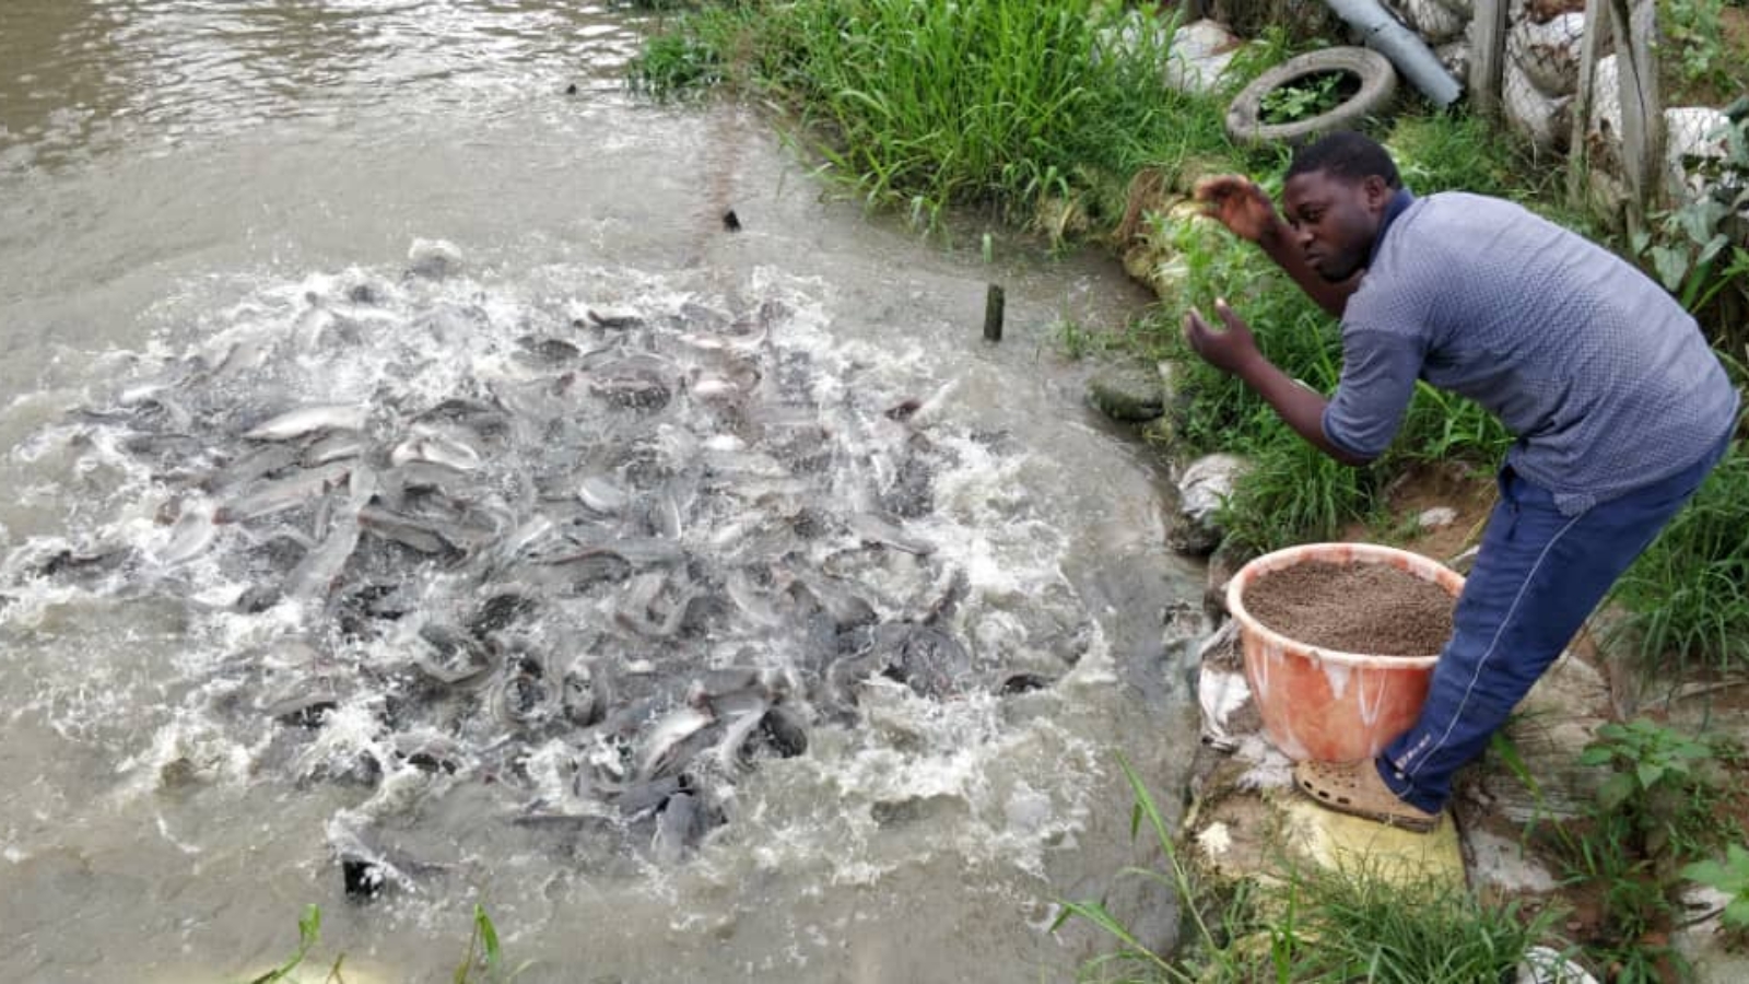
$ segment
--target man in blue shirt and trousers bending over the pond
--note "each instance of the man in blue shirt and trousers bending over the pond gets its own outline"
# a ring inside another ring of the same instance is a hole
[[[1287,170],[1279,215],[1224,175],[1196,196],[1341,317],[1327,401],[1258,350],[1184,315],[1198,355],[1237,375],[1345,464],[1390,443],[1415,380],[1471,397],[1516,438],[1420,718],[1373,762],[1300,763],[1331,809],[1431,830],[1483,751],[1614,580],[1725,455],[1739,397],[1695,320],[1632,264],[1497,198],[1415,198],[1383,147],[1333,133]]]

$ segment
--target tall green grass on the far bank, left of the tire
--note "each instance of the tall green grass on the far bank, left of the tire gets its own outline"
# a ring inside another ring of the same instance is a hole
[[[1046,196],[1097,224],[1139,166],[1230,152],[1219,102],[1163,82],[1174,26],[1097,0],[743,2],[677,19],[633,77],[721,74],[787,107],[827,179],[929,228],[953,207],[1025,222]]]

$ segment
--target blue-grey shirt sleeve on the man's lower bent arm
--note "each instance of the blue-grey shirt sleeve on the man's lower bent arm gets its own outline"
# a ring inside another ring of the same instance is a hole
[[[1359,459],[1385,453],[1415,397],[1424,357],[1417,338],[1390,331],[1343,331],[1341,380],[1324,408],[1324,438]]]

